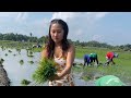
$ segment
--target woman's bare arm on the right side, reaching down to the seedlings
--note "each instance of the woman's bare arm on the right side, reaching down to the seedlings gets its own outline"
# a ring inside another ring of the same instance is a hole
[[[58,74],[58,78],[61,78],[71,72],[71,68],[73,65],[74,58],[75,58],[75,48],[73,45],[71,45],[69,50],[68,50],[68,54],[67,54],[66,69],[60,74]]]

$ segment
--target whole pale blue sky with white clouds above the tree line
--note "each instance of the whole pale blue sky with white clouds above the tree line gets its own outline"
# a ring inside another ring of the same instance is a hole
[[[0,33],[41,37],[56,17],[68,23],[69,39],[131,44],[131,12],[0,12]]]

